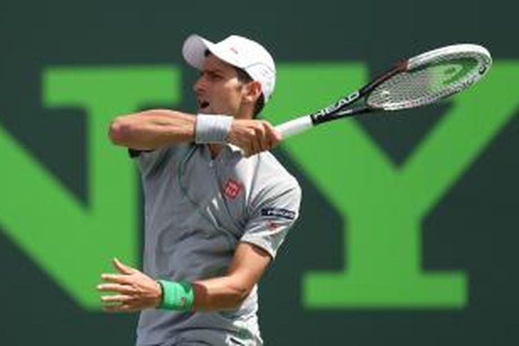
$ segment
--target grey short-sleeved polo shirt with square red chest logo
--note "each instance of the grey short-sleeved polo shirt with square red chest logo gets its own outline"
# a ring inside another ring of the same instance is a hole
[[[142,152],[145,194],[144,271],[156,279],[225,275],[239,242],[275,257],[298,217],[298,182],[269,152],[244,158],[226,145],[211,158],[206,145],[185,143]],[[257,286],[233,311],[140,313],[137,345],[262,345]],[[234,342],[234,343],[233,343]]]

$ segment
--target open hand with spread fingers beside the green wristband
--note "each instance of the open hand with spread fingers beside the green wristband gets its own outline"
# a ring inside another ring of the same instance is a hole
[[[114,293],[101,296],[104,311],[139,311],[160,304],[162,289],[158,282],[116,258],[113,266],[119,273],[102,273],[104,283],[97,286],[98,291]]]

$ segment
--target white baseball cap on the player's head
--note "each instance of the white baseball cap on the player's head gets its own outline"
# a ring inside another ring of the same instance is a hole
[[[261,44],[237,35],[231,35],[217,43],[199,35],[190,35],[182,47],[185,61],[199,70],[202,69],[206,51],[246,71],[253,80],[262,84],[265,102],[271,98],[275,86],[275,64],[272,56]]]

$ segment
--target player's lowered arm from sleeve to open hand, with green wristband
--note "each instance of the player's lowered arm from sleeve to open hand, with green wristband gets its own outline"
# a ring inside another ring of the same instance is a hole
[[[101,297],[105,311],[138,311],[161,307],[164,294],[168,295],[164,289],[169,289],[169,285],[179,285],[173,286],[173,289],[179,290],[178,297],[171,297],[169,293],[170,297],[167,298],[178,300],[172,304],[178,304],[179,310],[184,310],[183,304],[185,310],[236,309],[251,293],[269,262],[271,256],[262,248],[242,242],[236,248],[227,275],[197,280],[185,287],[176,282],[160,284],[152,277],[114,259],[113,264],[119,273],[102,274],[104,283],[98,285],[98,290],[112,293]],[[189,302],[190,299],[192,302]],[[185,300],[188,300],[187,305]]]

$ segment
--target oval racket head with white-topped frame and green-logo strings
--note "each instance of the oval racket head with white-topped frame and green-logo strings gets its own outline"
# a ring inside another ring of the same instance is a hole
[[[428,51],[399,63],[389,78],[370,88],[365,102],[386,111],[424,106],[468,88],[491,64],[489,51],[476,44]]]

